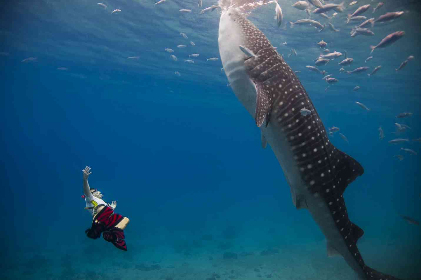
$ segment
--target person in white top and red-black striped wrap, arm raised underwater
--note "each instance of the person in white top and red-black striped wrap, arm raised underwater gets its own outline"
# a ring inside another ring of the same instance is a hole
[[[127,217],[114,213],[117,201],[111,204],[102,200],[104,196],[97,189],[91,189],[88,184],[88,177],[91,175],[91,168],[86,166],[83,171],[83,198],[86,201],[85,209],[90,211],[93,216],[92,226],[85,230],[88,237],[97,239],[101,236],[104,240],[111,242],[115,247],[127,251],[126,242],[124,241],[124,232],[129,223]]]

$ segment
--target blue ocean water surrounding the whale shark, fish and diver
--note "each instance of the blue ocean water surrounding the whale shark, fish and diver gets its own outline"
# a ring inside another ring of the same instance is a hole
[[[325,127],[339,127],[349,140],[336,133],[332,143],[365,169],[344,198],[351,221],[365,231],[358,246],[366,264],[419,279],[420,227],[400,215],[421,220],[421,144],[388,143],[421,137],[418,1],[385,0],[373,16],[405,13],[376,24],[372,37],[350,37],[353,24],[346,24],[346,14],[377,1],[345,1],[344,13],[329,20],[312,15],[340,29],[320,33],[286,24],[306,17],[294,2],[279,1],[281,28],[271,4],[248,18],[293,70],[301,70],[298,77]],[[332,2],[339,3],[326,1]],[[293,206],[282,169],[270,147],[261,148],[260,131],[227,86],[221,61],[206,61],[219,57],[220,10],[199,12],[215,3],[105,4],[106,9],[90,0],[0,4],[3,277],[356,279],[343,259],[328,258],[325,238],[308,211]],[[111,13],[115,9],[121,12]],[[370,17],[372,8],[366,13]],[[364,62],[370,45],[399,30],[404,37]],[[325,91],[322,76],[305,67],[322,52],[320,40],[330,51],[347,51],[354,58],[350,69],[382,68],[368,78],[339,73],[342,58],[330,61],[320,69],[338,83]],[[175,50],[178,61],[165,48]],[[291,48],[297,56],[288,57]],[[185,63],[192,53],[200,56]],[[415,59],[395,71],[410,55]],[[22,62],[29,57],[36,59]],[[356,85],[359,91],[352,90]],[[413,115],[397,119],[401,112]],[[397,135],[394,123],[410,129]],[[84,234],[91,226],[80,198],[86,165],[93,171],[91,187],[105,201],[117,200],[116,212],[131,220],[125,229],[128,252]],[[228,252],[238,258],[224,259]]]

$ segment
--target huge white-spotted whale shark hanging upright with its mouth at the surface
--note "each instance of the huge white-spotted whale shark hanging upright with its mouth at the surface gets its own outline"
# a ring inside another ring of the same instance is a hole
[[[368,267],[357,248],[364,231],[349,220],[344,191],[363,167],[330,143],[292,69],[238,6],[221,5],[218,47],[234,94],[272,148],[293,205],[307,209],[326,237],[328,256],[342,256],[361,280],[396,280]],[[306,108],[309,114],[301,115]]]

